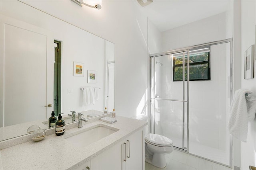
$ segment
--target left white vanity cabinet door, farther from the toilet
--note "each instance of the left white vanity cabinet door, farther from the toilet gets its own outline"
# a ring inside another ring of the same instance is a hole
[[[93,158],[91,167],[90,170],[122,170],[122,143]]]

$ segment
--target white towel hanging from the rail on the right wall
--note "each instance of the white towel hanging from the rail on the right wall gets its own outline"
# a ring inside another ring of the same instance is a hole
[[[246,89],[235,92],[228,122],[230,134],[242,142],[247,140],[248,121],[254,120],[256,114],[256,98],[245,96],[246,93],[250,94],[252,92]]]

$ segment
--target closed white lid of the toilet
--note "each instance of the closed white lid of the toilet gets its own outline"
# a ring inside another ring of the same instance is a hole
[[[158,134],[148,134],[145,137],[145,140],[148,141],[149,143],[152,143],[153,145],[160,145],[164,147],[170,147],[172,146],[172,140],[169,139],[168,137],[158,135]]]

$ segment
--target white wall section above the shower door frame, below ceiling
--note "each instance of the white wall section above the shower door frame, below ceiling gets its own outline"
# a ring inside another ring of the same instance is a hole
[[[225,12],[162,32],[162,51],[230,38],[227,16]]]

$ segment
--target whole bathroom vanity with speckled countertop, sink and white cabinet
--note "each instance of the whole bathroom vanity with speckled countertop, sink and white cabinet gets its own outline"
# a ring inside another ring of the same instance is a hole
[[[1,170],[144,170],[144,126],[147,122],[116,118],[118,121],[112,124],[100,120],[83,123],[80,129],[76,122],[73,123],[76,127],[66,130],[62,136],[52,134],[39,142],[31,140],[2,148]],[[0,144],[15,143],[15,140]]]

